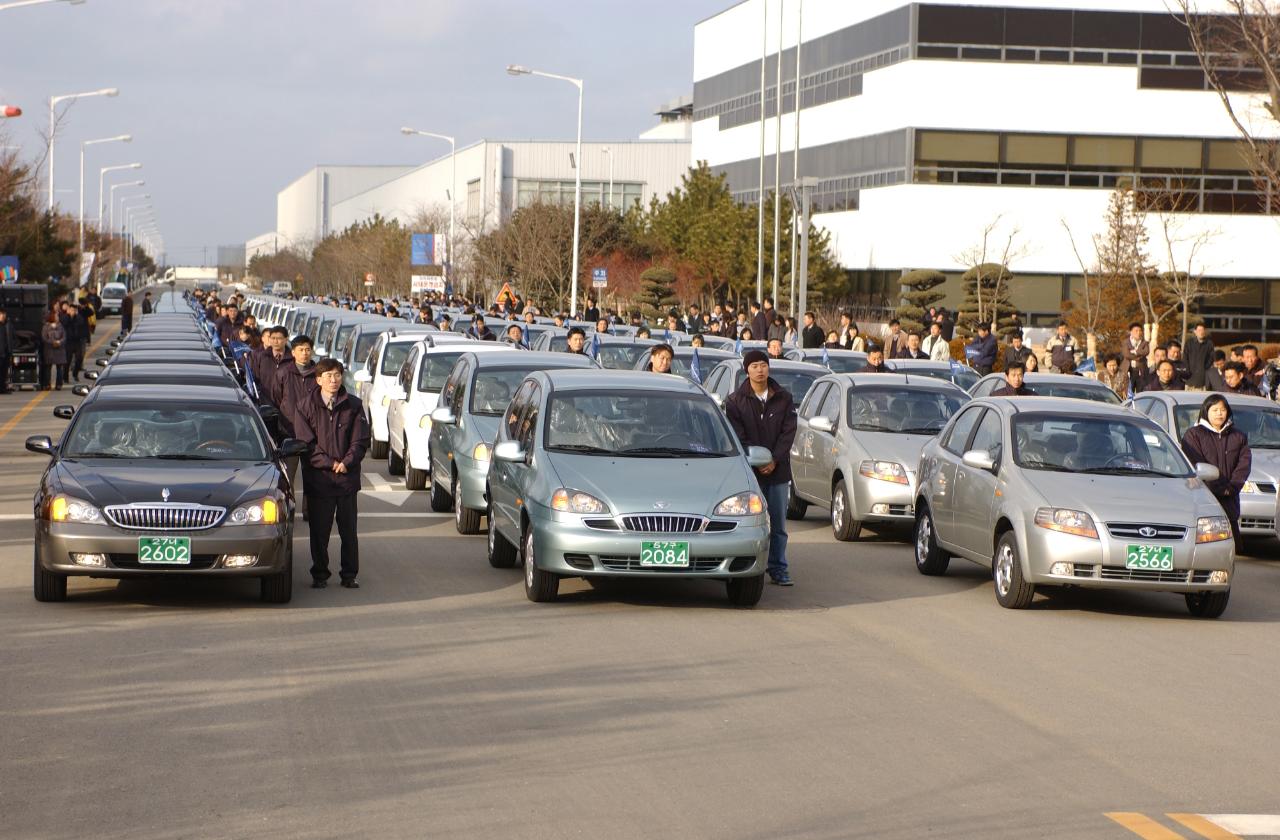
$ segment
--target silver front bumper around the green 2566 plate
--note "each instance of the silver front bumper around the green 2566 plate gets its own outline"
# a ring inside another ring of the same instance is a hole
[[[1196,543],[1194,529],[1181,540],[1152,542],[1174,549],[1172,571],[1125,569],[1130,540],[1100,535],[1100,539],[1061,534],[1028,526],[1025,562],[1033,584],[1092,586],[1097,589],[1146,589],[1149,592],[1226,592],[1235,576],[1235,543]],[[1133,540],[1137,542],[1137,540]],[[1070,575],[1055,575],[1057,562],[1073,565]],[[1211,584],[1211,572],[1226,571],[1228,583]]]

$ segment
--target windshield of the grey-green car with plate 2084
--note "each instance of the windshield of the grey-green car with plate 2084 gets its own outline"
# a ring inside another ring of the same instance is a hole
[[[737,444],[705,396],[659,391],[554,394],[545,446],[550,452],[625,457],[730,457]]]

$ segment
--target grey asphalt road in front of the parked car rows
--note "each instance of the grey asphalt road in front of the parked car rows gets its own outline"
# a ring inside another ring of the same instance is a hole
[[[1231,837],[1166,814],[1280,811],[1275,543],[1219,621],[1005,611],[977,566],[922,578],[817,510],[754,611],[676,581],[532,604],[376,462],[360,590],[300,562],[285,607],[88,579],[40,604],[22,442],[74,401],[0,396],[3,836]]]

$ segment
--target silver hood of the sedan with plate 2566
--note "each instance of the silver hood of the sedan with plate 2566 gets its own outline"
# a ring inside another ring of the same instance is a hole
[[[1222,508],[1199,479],[1079,475],[1023,470],[1050,507],[1084,510],[1100,522],[1161,522],[1194,528]],[[1030,499],[1024,499],[1029,502]],[[1030,507],[1027,505],[1027,507]]]

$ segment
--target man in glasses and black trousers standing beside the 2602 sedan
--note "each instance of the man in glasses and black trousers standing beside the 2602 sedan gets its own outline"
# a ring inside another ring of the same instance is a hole
[[[347,589],[358,589],[360,542],[356,535],[356,499],[360,462],[369,452],[369,423],[360,398],[342,387],[342,362],[325,359],[316,365],[319,387],[307,391],[296,415],[297,438],[311,444],[302,467],[311,526],[311,585],[324,589],[329,580],[329,534],[334,516],[342,540],[338,576]]]

